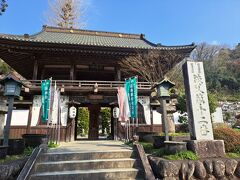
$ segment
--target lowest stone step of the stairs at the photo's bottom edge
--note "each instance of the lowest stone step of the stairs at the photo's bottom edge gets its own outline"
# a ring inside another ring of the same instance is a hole
[[[30,180],[117,180],[144,179],[143,177],[142,171],[138,169],[124,168],[36,173],[31,175]]]

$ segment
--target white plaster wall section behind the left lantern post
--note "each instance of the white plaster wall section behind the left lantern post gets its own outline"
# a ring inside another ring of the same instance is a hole
[[[29,110],[13,110],[11,126],[27,126]],[[7,114],[5,114],[6,125]]]

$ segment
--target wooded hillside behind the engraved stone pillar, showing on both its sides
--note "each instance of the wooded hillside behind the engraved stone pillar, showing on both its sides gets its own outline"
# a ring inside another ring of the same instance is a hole
[[[240,44],[234,49],[220,45],[201,43],[191,57],[203,61],[207,89],[218,100],[240,101]],[[184,91],[182,63],[167,76],[176,83],[176,88]]]

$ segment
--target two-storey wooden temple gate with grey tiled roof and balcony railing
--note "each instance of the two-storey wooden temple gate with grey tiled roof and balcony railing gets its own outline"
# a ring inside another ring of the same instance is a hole
[[[16,109],[28,111],[24,125],[11,126],[10,136],[25,133],[46,134],[46,124],[39,120],[41,80],[52,78],[60,88],[65,106],[61,125],[61,141],[73,140],[74,122],[68,118],[70,102],[84,104],[90,110],[90,139],[98,139],[97,114],[100,107],[113,108],[117,104],[117,88],[123,86],[126,75],[119,61],[148,50],[174,51],[188,57],[194,44],[162,46],[145,39],[143,34],[89,31],[43,26],[41,32],[29,35],[0,34],[0,58],[24,79],[22,100],[16,100]],[[149,97],[151,85],[138,82],[139,96]],[[145,106],[144,106],[145,107]],[[149,111],[152,107],[146,105]],[[143,108],[144,110],[144,108]],[[143,113],[144,114],[144,113]],[[38,116],[38,117],[36,117]],[[19,119],[21,121],[21,119]],[[152,117],[141,124],[141,132],[161,132],[161,124],[154,124]],[[120,126],[119,129],[122,127]]]

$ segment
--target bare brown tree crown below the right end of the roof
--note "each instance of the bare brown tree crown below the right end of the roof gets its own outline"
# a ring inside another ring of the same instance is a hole
[[[119,62],[119,65],[124,73],[139,75],[153,86],[183,58],[182,54],[174,51],[149,50],[126,57]]]

